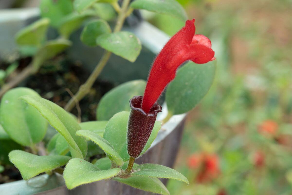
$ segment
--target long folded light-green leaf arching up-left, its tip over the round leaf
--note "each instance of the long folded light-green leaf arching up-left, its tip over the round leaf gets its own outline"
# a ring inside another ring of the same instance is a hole
[[[81,127],[71,114],[67,113],[57,104],[41,97],[22,96],[20,99],[34,106],[48,120],[52,127],[66,139],[73,158],[84,158],[86,156],[86,139],[75,135]]]

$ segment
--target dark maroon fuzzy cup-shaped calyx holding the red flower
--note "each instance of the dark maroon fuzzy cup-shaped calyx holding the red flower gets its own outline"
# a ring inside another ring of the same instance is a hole
[[[157,117],[161,112],[161,106],[155,103],[149,113],[142,110],[143,96],[134,96],[130,99],[132,108],[128,122],[128,154],[137,158],[144,149]]]

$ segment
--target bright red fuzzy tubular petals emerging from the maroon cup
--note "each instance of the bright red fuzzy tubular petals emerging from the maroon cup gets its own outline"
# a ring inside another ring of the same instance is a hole
[[[142,109],[148,113],[160,94],[171,82],[176,69],[185,61],[203,64],[214,60],[211,41],[195,34],[195,20],[187,20],[185,27],[176,33],[156,57],[148,77]]]

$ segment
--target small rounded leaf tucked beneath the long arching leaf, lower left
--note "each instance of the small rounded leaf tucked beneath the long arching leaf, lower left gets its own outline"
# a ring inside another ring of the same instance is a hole
[[[51,154],[66,155],[70,149],[66,139],[60,133],[57,133],[49,141],[47,150]]]

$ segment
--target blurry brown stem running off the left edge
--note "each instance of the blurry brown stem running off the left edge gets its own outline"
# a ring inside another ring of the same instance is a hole
[[[25,80],[27,77],[33,74],[33,66],[32,64],[29,64],[24,70],[21,71],[18,75],[16,75],[13,80],[8,82],[7,84],[4,84],[3,87],[1,87],[0,90],[0,98],[11,88],[15,87],[17,84]]]

